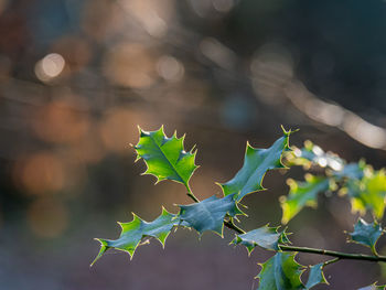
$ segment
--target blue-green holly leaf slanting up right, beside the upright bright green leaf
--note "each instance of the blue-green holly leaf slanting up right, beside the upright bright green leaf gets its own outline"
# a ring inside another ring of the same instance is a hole
[[[238,201],[240,201],[249,193],[264,190],[261,183],[268,170],[286,168],[281,162],[281,157],[283,151],[289,150],[288,140],[291,130],[283,131],[285,136],[268,149],[253,148],[247,143],[243,168],[232,180],[219,184],[224,195],[239,193]]]

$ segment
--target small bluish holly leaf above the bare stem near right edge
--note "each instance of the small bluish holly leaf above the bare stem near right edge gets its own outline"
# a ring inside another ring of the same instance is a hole
[[[358,243],[375,250],[375,245],[382,234],[382,227],[377,222],[367,224],[364,219],[358,218],[354,226],[354,232],[349,233],[351,237],[349,241]]]

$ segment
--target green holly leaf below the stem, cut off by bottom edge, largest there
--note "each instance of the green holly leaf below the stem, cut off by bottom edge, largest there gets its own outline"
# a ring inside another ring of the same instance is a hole
[[[304,289],[300,276],[304,267],[294,260],[296,254],[278,251],[261,264],[258,290]]]

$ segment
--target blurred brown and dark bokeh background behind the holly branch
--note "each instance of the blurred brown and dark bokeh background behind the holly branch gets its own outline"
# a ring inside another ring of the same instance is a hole
[[[200,198],[240,168],[247,140],[269,147],[280,125],[300,129],[292,144],[379,169],[385,31],[382,0],[0,0],[0,288],[256,289],[271,254],[248,258],[228,230],[200,241],[179,229],[164,250],[153,240],[131,261],[111,250],[89,268],[93,238],[116,238],[117,221],[191,203],[182,185],[139,175],[137,126],[187,133]],[[270,172],[269,190],[245,198],[244,228],[280,224],[289,176],[303,172]],[[290,223],[291,240],[366,253],[345,244],[355,221],[345,198],[321,195]],[[385,277],[365,261],[326,269],[330,289]]]

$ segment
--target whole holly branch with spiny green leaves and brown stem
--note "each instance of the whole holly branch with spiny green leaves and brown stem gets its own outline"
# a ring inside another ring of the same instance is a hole
[[[176,214],[162,207],[161,215],[152,222],[146,222],[133,214],[131,222],[119,223],[121,233],[117,239],[97,239],[100,250],[93,264],[110,248],[128,253],[131,259],[136,249],[151,238],[164,246],[173,228],[193,228],[200,236],[205,232],[214,232],[223,237],[224,226],[236,232],[230,244],[245,246],[248,254],[257,246],[276,253],[267,261],[259,264],[261,270],[257,276],[258,289],[311,289],[319,283],[328,283],[323,269],[340,259],[386,261],[386,257],[379,256],[376,250],[376,243],[384,233],[378,221],[385,212],[385,171],[376,171],[364,161],[347,163],[336,154],[324,152],[311,141],[307,141],[301,149],[290,148],[289,137],[293,131],[286,131],[283,128],[282,131],[282,137],[267,149],[254,148],[247,143],[242,169],[229,181],[218,183],[222,196],[213,195],[199,201],[190,187],[190,180],[199,168],[195,164],[196,150],[186,151],[184,136],[178,138],[174,132],[172,137],[167,137],[163,127],[156,131],[139,129],[140,138],[133,148],[137,160],[143,159],[147,164],[143,174],[154,175],[157,182],[170,180],[183,184],[194,203],[178,205]],[[315,167],[322,170],[318,171],[319,174],[305,174],[304,181],[288,180],[289,193],[280,197],[282,224],[289,223],[305,206],[315,207],[320,193],[335,192],[351,201],[353,212],[358,212],[360,215],[367,211],[372,213],[374,221],[367,223],[360,218],[354,230],[347,234],[347,241],[368,247],[373,256],[296,247],[291,246],[289,234],[286,228],[280,229],[281,226],[265,225],[245,232],[235,224],[239,215],[245,215],[240,211],[242,200],[248,194],[265,190],[265,174],[270,170],[288,169],[291,165],[303,165],[307,171],[312,171]],[[296,261],[297,251],[328,255],[335,259],[305,267]],[[302,281],[304,270],[309,271],[305,282]],[[376,284],[368,287],[380,288]]]

